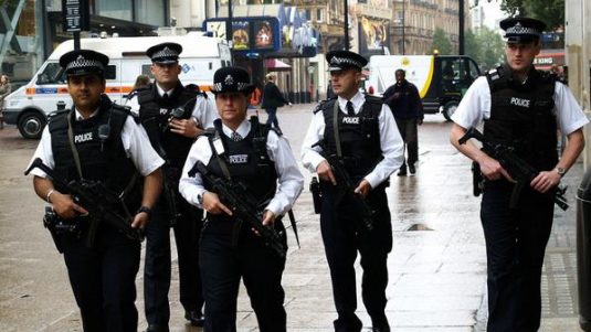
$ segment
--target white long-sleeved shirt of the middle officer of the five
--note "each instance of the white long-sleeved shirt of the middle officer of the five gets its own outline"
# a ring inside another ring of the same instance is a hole
[[[223,135],[231,137],[232,130],[230,128],[222,126],[222,130]],[[246,137],[250,131],[251,122],[247,120],[244,120],[236,130],[242,137]],[[294,205],[297,196],[302,193],[304,176],[299,172],[289,143],[285,138],[277,136],[273,130],[268,132],[266,150],[270,159],[275,162],[278,188],[275,196],[271,200],[265,210],[268,210],[278,216],[285,214]],[[212,151],[209,138],[204,136],[199,137],[189,151],[184,168],[182,169],[182,176],[179,182],[179,192],[184,200],[200,208],[202,208],[202,206],[199,204],[197,197],[205,192],[203,180],[199,173],[197,173],[194,178],[190,178],[188,173],[197,161],[201,161],[207,165],[211,157]]]

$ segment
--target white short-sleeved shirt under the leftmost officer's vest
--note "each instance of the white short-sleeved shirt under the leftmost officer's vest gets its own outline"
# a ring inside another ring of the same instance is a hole
[[[94,117],[98,110],[93,113],[91,117]],[[82,115],[76,109],[76,121],[82,120]],[[51,148],[51,133],[50,126],[45,126],[43,133],[41,136],[41,141],[36,147],[35,153],[31,159],[29,165],[35,160],[35,158],[41,158],[43,163],[46,164],[50,169],[55,169],[55,160],[53,159],[53,149]],[[128,116],[125,120],[125,124],[122,129],[122,142],[124,150],[128,158],[131,159],[134,165],[143,176],[149,175],[151,172],[156,171],[161,167],[165,161],[156,153],[152,147],[149,144],[148,133],[144,127],[138,126],[135,120]],[[34,169],[31,171],[33,175],[46,178],[48,175],[40,169]]]

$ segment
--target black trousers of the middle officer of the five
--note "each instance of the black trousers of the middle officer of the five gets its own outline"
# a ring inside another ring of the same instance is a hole
[[[251,227],[236,222],[207,222],[200,240],[199,255],[205,297],[205,332],[236,331],[236,299],[240,280],[244,281],[256,314],[258,331],[286,331],[283,307],[285,292],[281,285],[285,258],[265,247]],[[285,228],[279,221],[275,228]],[[238,237],[236,237],[238,236]]]

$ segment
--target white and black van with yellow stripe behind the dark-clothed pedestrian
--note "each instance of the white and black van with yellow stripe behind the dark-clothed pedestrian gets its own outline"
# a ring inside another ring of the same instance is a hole
[[[481,69],[463,55],[373,55],[369,60],[367,90],[381,96],[395,83],[394,73],[402,68],[407,81],[416,86],[426,114],[442,113],[450,120],[469,85]]]

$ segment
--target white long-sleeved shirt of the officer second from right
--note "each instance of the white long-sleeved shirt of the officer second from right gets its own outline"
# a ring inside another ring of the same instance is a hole
[[[340,96],[337,100],[340,110],[344,114],[347,114],[346,109],[348,100]],[[366,97],[361,93],[357,93],[351,98],[351,103],[353,105],[355,114],[359,114],[366,103]],[[404,142],[398,131],[392,111],[386,104],[382,106],[378,122],[380,128],[380,149],[382,151],[383,160],[381,160],[376,168],[365,176],[365,180],[369,182],[371,188],[376,188],[386,181],[404,161]],[[308,132],[302,144],[302,162],[304,163],[304,167],[313,173],[316,172],[318,164],[325,160],[325,158],[318,153],[321,149],[319,147],[312,147],[324,138],[325,126],[323,111],[317,111],[312,118]]]

